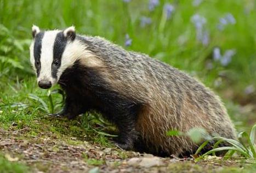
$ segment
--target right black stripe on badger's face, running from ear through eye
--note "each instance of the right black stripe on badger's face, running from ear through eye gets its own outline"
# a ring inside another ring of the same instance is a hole
[[[63,32],[60,32],[56,35],[54,46],[53,46],[53,63],[52,63],[52,76],[54,79],[57,79],[57,72],[61,65],[61,56],[65,50],[67,44],[67,38],[64,37]],[[55,64],[55,62],[59,62]]]

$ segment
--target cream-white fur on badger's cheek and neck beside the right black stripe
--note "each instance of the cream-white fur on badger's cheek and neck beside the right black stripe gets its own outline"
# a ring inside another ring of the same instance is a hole
[[[64,72],[65,69],[72,67],[72,65],[79,59],[79,58],[87,58],[95,56],[92,52],[86,49],[86,46],[82,44],[79,40],[69,41],[66,45],[66,48],[62,54],[61,58],[61,65],[58,69],[57,77],[58,80],[60,79],[61,74]]]

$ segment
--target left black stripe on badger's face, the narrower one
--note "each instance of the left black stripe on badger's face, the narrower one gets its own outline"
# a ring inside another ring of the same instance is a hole
[[[44,32],[39,32],[35,37],[35,44],[34,44],[34,58],[35,58],[35,67],[37,77],[39,76],[41,70],[41,48],[42,48],[42,39],[43,39]],[[38,63],[39,62],[39,63]]]

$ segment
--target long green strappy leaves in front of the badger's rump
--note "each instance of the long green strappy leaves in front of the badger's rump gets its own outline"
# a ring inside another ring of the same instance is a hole
[[[244,158],[256,158],[256,144],[255,144],[256,124],[252,127],[250,135],[243,131],[238,134],[238,141],[234,139],[224,138],[222,136],[209,135],[206,130],[201,128],[192,128],[189,132],[179,132],[178,130],[170,130],[167,132],[169,136],[189,136],[196,144],[200,143],[202,139],[206,139],[197,149],[193,157],[201,159],[209,154],[215,155],[216,152],[227,151],[224,158],[230,158],[235,153],[240,154]],[[209,144],[209,142],[216,141],[213,144],[213,149],[199,156],[203,148]],[[229,144],[230,146],[218,147],[221,143]]]

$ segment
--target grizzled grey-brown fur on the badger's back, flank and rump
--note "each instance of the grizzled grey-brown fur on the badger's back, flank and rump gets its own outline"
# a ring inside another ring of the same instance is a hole
[[[195,151],[197,144],[185,136],[167,136],[168,130],[187,132],[200,127],[209,134],[236,139],[234,126],[219,97],[194,77],[100,37],[78,39],[104,62],[110,74],[106,80],[113,90],[144,103],[136,130],[150,151],[162,150],[177,156]]]

